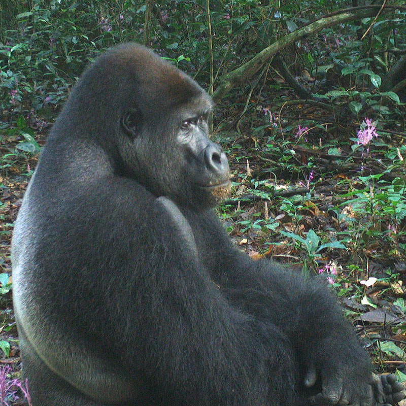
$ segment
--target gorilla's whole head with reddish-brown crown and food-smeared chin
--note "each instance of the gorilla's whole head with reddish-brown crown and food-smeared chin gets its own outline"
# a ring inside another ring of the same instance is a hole
[[[227,158],[208,138],[211,110],[210,97],[186,74],[142,46],[124,44],[85,72],[56,130],[72,125],[63,116],[81,117],[91,123],[85,137],[97,137],[116,172],[199,211],[230,188]]]

